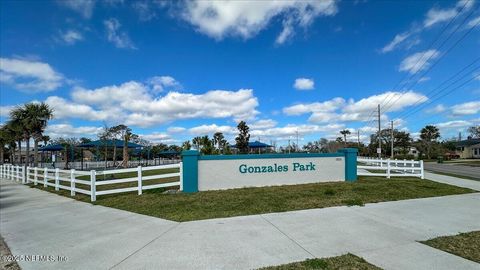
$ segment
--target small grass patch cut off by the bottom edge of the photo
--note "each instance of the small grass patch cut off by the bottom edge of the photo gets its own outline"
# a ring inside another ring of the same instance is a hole
[[[309,259],[302,262],[294,262],[278,266],[270,266],[260,268],[261,270],[340,270],[340,269],[356,269],[356,270],[379,270],[381,268],[368,263],[364,259],[353,254],[346,254],[337,257],[325,259]]]

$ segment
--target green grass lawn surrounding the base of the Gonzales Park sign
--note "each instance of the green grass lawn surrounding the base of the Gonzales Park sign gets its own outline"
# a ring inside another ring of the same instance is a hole
[[[37,186],[42,188],[41,186]],[[53,188],[47,188],[54,191]],[[473,190],[419,178],[361,177],[354,183],[329,182],[162,194],[164,189],[98,196],[95,204],[175,221],[254,215],[339,205],[471,193]],[[57,192],[69,196],[69,191]],[[89,202],[90,197],[76,195]]]

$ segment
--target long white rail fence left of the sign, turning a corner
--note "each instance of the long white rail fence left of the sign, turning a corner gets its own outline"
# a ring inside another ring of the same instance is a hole
[[[178,172],[150,172],[153,170],[164,169],[178,169]],[[127,173],[135,173],[135,176],[118,179],[113,178],[114,175],[118,177],[118,174]],[[108,171],[78,171],[75,169],[60,170],[58,168],[50,169],[38,167],[26,167],[26,169],[24,169],[24,167],[21,166],[5,164],[0,165],[0,176],[3,179],[18,181],[23,184],[41,184],[44,187],[54,187],[55,190],[70,190],[71,196],[75,196],[75,193],[77,192],[82,193],[85,195],[89,195],[92,202],[96,201],[97,196],[122,192],[137,191],[138,195],[141,195],[143,190],[173,186],[179,186],[180,190],[183,190],[182,163],[149,167],[138,166],[137,168]],[[152,180],[167,178],[178,178],[178,180],[172,182],[151,184]],[[113,184],[122,183],[136,183],[136,185],[123,188],[112,188],[111,186]],[[105,188],[102,187],[101,190],[97,190],[97,187],[99,186],[104,186]]]

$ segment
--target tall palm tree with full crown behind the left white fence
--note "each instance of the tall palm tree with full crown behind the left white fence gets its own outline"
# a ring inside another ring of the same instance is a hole
[[[38,142],[42,140],[47,122],[53,117],[53,110],[46,103],[27,103],[10,112],[10,118],[18,121],[23,128],[23,139],[27,143],[27,164],[30,161],[30,139],[34,139],[34,166],[38,163]]]

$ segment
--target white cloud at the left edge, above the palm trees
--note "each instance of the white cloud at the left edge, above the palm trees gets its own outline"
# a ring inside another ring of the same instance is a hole
[[[44,62],[0,58],[0,82],[27,92],[49,92],[60,87],[64,77]]]

